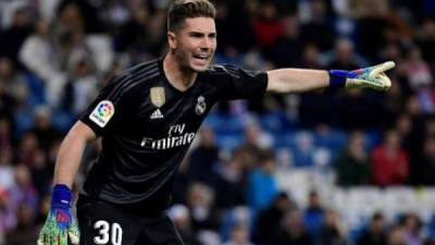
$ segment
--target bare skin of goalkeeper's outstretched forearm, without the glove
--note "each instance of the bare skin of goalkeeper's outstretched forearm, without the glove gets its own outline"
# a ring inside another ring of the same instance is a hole
[[[330,86],[330,74],[322,70],[278,69],[268,72],[266,91],[303,93]]]

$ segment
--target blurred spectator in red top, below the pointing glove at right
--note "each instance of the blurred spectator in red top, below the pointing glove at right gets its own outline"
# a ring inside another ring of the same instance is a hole
[[[372,180],[377,186],[403,185],[408,183],[408,155],[400,146],[396,131],[388,131],[384,142],[372,154]]]

